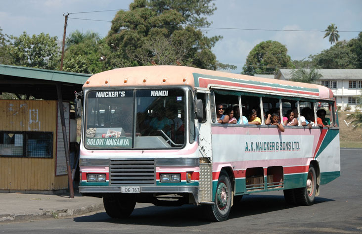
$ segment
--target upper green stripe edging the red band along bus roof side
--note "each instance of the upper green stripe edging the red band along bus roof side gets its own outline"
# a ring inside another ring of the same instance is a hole
[[[195,87],[199,87],[199,78],[208,78],[208,79],[214,79],[214,80],[221,80],[221,81],[229,81],[229,82],[236,82],[236,83],[243,83],[248,85],[262,85],[262,86],[268,86],[268,87],[274,87],[274,88],[282,88],[282,89],[290,89],[290,90],[299,90],[299,91],[308,91],[308,92],[316,92],[319,93],[318,89],[312,89],[312,88],[304,88],[304,87],[298,87],[298,86],[290,86],[290,85],[280,85],[280,84],[271,84],[267,82],[260,82],[260,81],[250,81],[250,80],[239,80],[235,78],[228,78],[228,77],[221,77],[221,76],[210,76],[210,75],[203,75],[199,73],[192,73],[193,79],[195,82]]]

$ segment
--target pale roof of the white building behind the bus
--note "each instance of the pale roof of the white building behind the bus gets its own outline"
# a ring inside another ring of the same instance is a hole
[[[293,70],[295,69],[280,69],[276,79],[281,79],[281,76],[283,76],[285,80],[291,79],[291,72]],[[323,78],[320,78],[321,80],[362,79],[362,69],[318,69],[318,71],[323,76]]]

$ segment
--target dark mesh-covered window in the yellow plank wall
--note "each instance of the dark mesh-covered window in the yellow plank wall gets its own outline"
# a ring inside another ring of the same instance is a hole
[[[0,156],[51,158],[53,133],[0,131]]]

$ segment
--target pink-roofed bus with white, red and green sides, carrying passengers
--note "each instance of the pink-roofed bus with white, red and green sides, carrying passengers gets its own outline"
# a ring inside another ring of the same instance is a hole
[[[102,197],[112,218],[141,202],[200,205],[220,222],[246,194],[283,190],[288,204],[312,205],[340,176],[336,101],[324,86],[142,66],[92,75],[83,99],[79,191]],[[220,124],[221,105],[240,118],[254,109],[261,124]],[[265,124],[291,109],[297,125]],[[319,109],[330,125],[317,125]],[[304,110],[312,125],[303,126]]]

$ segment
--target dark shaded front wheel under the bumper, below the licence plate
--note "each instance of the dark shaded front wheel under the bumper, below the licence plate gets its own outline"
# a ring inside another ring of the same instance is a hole
[[[103,196],[104,209],[111,218],[127,218],[136,206],[136,196],[128,193]]]

